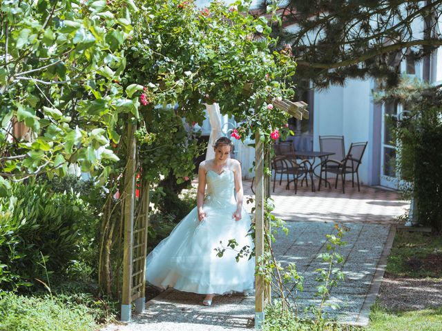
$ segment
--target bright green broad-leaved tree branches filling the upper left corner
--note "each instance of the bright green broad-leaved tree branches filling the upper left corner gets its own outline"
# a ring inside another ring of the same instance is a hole
[[[117,83],[126,68],[121,46],[131,36],[133,1],[3,1],[0,6],[0,121],[3,172],[15,178],[68,163],[101,174],[119,113],[137,116],[137,101]],[[32,130],[32,142],[5,139],[10,120]],[[8,158],[8,152],[19,158]],[[104,172],[106,174],[106,172]]]

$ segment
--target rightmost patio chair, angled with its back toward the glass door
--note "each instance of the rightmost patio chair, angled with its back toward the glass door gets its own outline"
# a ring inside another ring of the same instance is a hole
[[[359,185],[359,165],[361,165],[362,157],[365,152],[365,148],[367,147],[367,141],[361,143],[352,143],[350,145],[347,156],[342,161],[336,161],[332,159],[327,159],[327,172],[332,172],[336,174],[336,181],[334,183],[334,188],[338,188],[338,177],[340,175],[343,182],[343,193],[345,193],[345,175],[352,174],[352,187],[354,187],[354,174],[356,173],[356,180],[358,183],[358,191],[361,191],[361,187]],[[330,166],[333,165],[334,167]],[[319,177],[319,187],[321,183],[322,177]]]

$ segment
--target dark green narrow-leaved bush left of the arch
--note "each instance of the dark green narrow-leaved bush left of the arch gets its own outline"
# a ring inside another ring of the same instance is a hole
[[[43,257],[51,273],[75,270],[95,241],[95,210],[72,190],[54,193],[46,183],[12,183],[9,196],[0,199],[0,210],[3,290],[46,279]]]

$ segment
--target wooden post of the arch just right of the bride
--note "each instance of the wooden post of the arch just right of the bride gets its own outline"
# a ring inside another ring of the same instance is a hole
[[[264,144],[260,141],[260,132],[255,134],[255,253],[256,267],[262,263],[264,257]],[[255,328],[262,329],[265,315],[264,301],[264,278],[262,276],[255,277]]]

